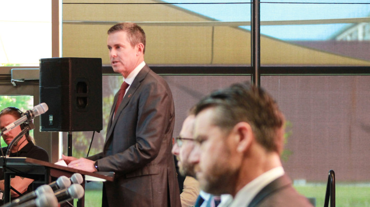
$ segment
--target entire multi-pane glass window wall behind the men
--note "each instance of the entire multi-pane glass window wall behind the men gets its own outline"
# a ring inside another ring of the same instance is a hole
[[[37,66],[39,58],[51,57],[50,0],[1,1],[0,8],[0,66]],[[143,27],[146,62],[160,69],[155,71],[174,95],[174,136],[186,111],[204,94],[251,79],[250,0],[63,0],[62,9],[63,57],[102,58],[108,66],[107,30],[126,21]],[[260,3],[260,85],[289,121],[285,170],[316,206],[323,205],[331,169],[337,206],[370,206],[364,161],[370,135],[369,16],[369,0]],[[217,67],[224,69],[210,72]],[[0,72],[0,83],[10,79],[9,68]],[[104,125],[90,155],[103,147],[121,81],[112,72],[103,77]],[[91,136],[74,133],[75,156],[86,155]],[[99,206],[88,203],[95,197],[86,198],[86,204]]]

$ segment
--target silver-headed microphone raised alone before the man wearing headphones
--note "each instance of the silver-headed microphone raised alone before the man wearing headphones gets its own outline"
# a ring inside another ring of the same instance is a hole
[[[21,125],[23,122],[25,122],[27,120],[32,120],[36,116],[39,116],[40,114],[45,113],[48,109],[49,108],[47,107],[47,105],[45,103],[41,103],[41,104],[36,105],[32,110],[26,111],[25,112],[26,114],[23,115],[21,118],[19,118],[15,122],[9,124],[8,126],[4,127],[1,130],[1,135],[5,134],[5,133],[9,132],[10,130],[14,129],[15,127]]]

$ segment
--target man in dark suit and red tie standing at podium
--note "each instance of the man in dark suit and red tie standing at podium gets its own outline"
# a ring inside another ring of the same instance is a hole
[[[103,206],[180,207],[171,154],[171,90],[144,62],[146,37],[141,27],[116,24],[108,31],[107,44],[111,66],[124,83],[114,97],[104,150],[87,159],[63,159],[68,167],[115,173],[113,182],[104,183]]]

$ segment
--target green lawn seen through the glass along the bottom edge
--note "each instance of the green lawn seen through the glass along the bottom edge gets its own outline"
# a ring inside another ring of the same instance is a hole
[[[294,186],[296,190],[308,197],[316,198],[316,207],[324,207],[326,183]],[[341,184],[335,186],[335,206],[336,207],[370,207],[370,184]],[[76,200],[74,201],[76,206]],[[101,190],[86,190],[86,207],[102,206]]]

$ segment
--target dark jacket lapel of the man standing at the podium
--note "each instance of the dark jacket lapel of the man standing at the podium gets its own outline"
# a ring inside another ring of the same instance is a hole
[[[147,76],[149,70],[150,69],[149,69],[148,65],[145,65],[144,68],[141,69],[140,72],[136,75],[134,81],[130,85],[130,88],[128,89],[127,93],[123,97],[123,100],[122,100],[121,104],[118,106],[116,114],[114,115],[114,118],[112,119],[113,114],[114,114],[115,104],[117,103],[117,97],[118,97],[117,94],[118,93],[115,95],[113,105],[112,105],[112,108],[111,108],[111,114],[110,114],[110,117],[109,117],[109,123],[108,123],[108,128],[107,128],[107,136],[106,136],[105,144],[107,144],[108,140],[111,138],[111,134],[113,132],[114,125],[117,123],[119,114],[123,111],[123,109],[126,107],[128,102],[131,100],[132,96],[134,95],[136,90],[139,88],[141,82]]]

